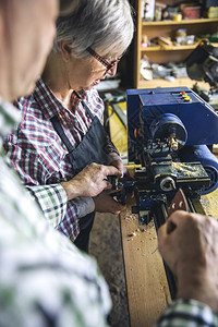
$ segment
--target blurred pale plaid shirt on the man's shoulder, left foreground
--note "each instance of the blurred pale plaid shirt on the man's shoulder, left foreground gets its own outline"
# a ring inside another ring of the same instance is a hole
[[[96,262],[48,226],[2,148],[17,113],[0,99],[0,326],[107,326]]]

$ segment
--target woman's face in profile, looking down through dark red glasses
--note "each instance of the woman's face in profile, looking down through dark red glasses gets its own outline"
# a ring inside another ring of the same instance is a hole
[[[114,56],[105,58],[108,62],[116,60]],[[88,90],[100,83],[100,80],[105,80],[106,75],[113,76],[117,72],[117,64],[114,64],[109,71],[95,58],[75,59],[72,58],[71,66],[69,68],[69,85],[71,89]]]

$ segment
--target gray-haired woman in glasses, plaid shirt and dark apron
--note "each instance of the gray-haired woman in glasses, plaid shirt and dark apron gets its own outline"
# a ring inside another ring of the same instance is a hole
[[[83,0],[71,16],[58,19],[44,74],[34,93],[17,100],[22,122],[5,143],[25,184],[60,183],[65,190],[66,213],[57,228],[85,251],[94,211],[119,213],[123,206],[107,192],[71,199],[68,181],[92,162],[123,173],[102,126],[104,104],[94,86],[116,74],[132,37],[128,0]]]

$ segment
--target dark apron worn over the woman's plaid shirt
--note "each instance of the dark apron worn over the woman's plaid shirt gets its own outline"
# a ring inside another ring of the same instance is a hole
[[[51,119],[53,129],[68,148],[69,154],[66,156],[75,174],[92,162],[101,165],[106,165],[107,162],[107,154],[105,153],[107,136],[105,128],[99,119],[93,116],[88,106],[83,101],[82,104],[86,109],[86,114],[92,119],[92,125],[76,147],[69,141],[58,117]],[[80,218],[80,234],[74,241],[74,244],[78,249],[86,252],[88,252],[89,233],[94,223],[94,217],[95,213],[90,213],[85,217]]]

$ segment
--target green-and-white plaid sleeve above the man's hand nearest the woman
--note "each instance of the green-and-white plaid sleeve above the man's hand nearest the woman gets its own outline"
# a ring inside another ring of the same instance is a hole
[[[68,197],[60,184],[26,186],[38,202],[46,219],[58,226],[66,211]]]

